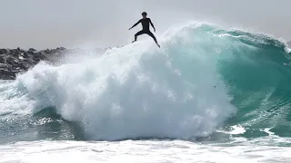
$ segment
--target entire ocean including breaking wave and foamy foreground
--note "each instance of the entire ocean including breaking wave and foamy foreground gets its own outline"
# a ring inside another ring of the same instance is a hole
[[[185,24],[0,81],[0,162],[291,162],[291,53]]]

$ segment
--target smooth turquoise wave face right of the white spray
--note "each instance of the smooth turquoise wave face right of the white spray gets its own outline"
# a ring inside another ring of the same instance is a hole
[[[246,138],[266,136],[260,131],[266,128],[279,137],[290,137],[291,72],[286,44],[265,35],[228,33],[247,36],[232,39],[240,48],[232,52],[232,59],[220,60],[232,103],[239,109],[228,124],[242,124]]]

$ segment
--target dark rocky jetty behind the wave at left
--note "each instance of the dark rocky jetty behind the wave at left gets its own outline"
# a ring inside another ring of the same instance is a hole
[[[33,48],[0,49],[0,80],[14,80],[17,73],[27,71],[38,62],[56,62],[70,51],[63,47],[42,51]]]

